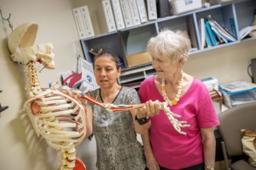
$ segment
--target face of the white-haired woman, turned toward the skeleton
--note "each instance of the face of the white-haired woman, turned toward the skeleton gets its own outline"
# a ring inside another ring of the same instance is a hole
[[[172,77],[178,70],[178,62],[163,55],[152,57],[152,66],[156,69],[158,78]]]

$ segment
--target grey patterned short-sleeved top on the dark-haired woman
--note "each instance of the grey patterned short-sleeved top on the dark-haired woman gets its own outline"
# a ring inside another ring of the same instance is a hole
[[[100,90],[88,94],[102,102]],[[113,104],[138,104],[136,90],[122,87]],[[136,132],[129,111],[108,112],[88,103],[93,110],[93,134],[97,143],[97,168],[99,170],[145,169],[143,148],[136,139]]]

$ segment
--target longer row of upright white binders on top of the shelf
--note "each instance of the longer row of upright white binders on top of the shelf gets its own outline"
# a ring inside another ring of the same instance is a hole
[[[97,6],[101,33],[116,31],[157,19],[156,0],[104,0]],[[150,17],[147,15],[149,9]],[[153,13],[153,14],[152,14]]]

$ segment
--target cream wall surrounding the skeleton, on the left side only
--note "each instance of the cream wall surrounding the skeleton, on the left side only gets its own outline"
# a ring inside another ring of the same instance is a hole
[[[60,82],[60,74],[64,71],[76,70],[73,43],[79,46],[79,41],[72,15],[74,7],[76,4],[70,0],[0,0],[4,17],[12,13],[14,27],[24,22],[36,22],[38,34],[35,44],[50,42],[54,45],[56,69],[44,69],[39,74],[42,87],[47,87],[49,82]],[[7,22],[0,20],[0,90],[3,90],[0,103],[9,106],[0,113],[0,169],[56,169],[56,152],[35,136],[28,117],[19,113],[26,93],[22,69],[10,60],[7,46],[10,32]],[[95,169],[94,138],[91,142],[86,139],[78,152],[88,169]]]

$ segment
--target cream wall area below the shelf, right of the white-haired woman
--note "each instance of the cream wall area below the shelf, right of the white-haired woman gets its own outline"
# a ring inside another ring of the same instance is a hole
[[[251,59],[256,58],[255,46],[256,40],[252,40],[190,55],[184,64],[184,71],[200,79],[213,76],[219,84],[252,81],[247,67]]]

